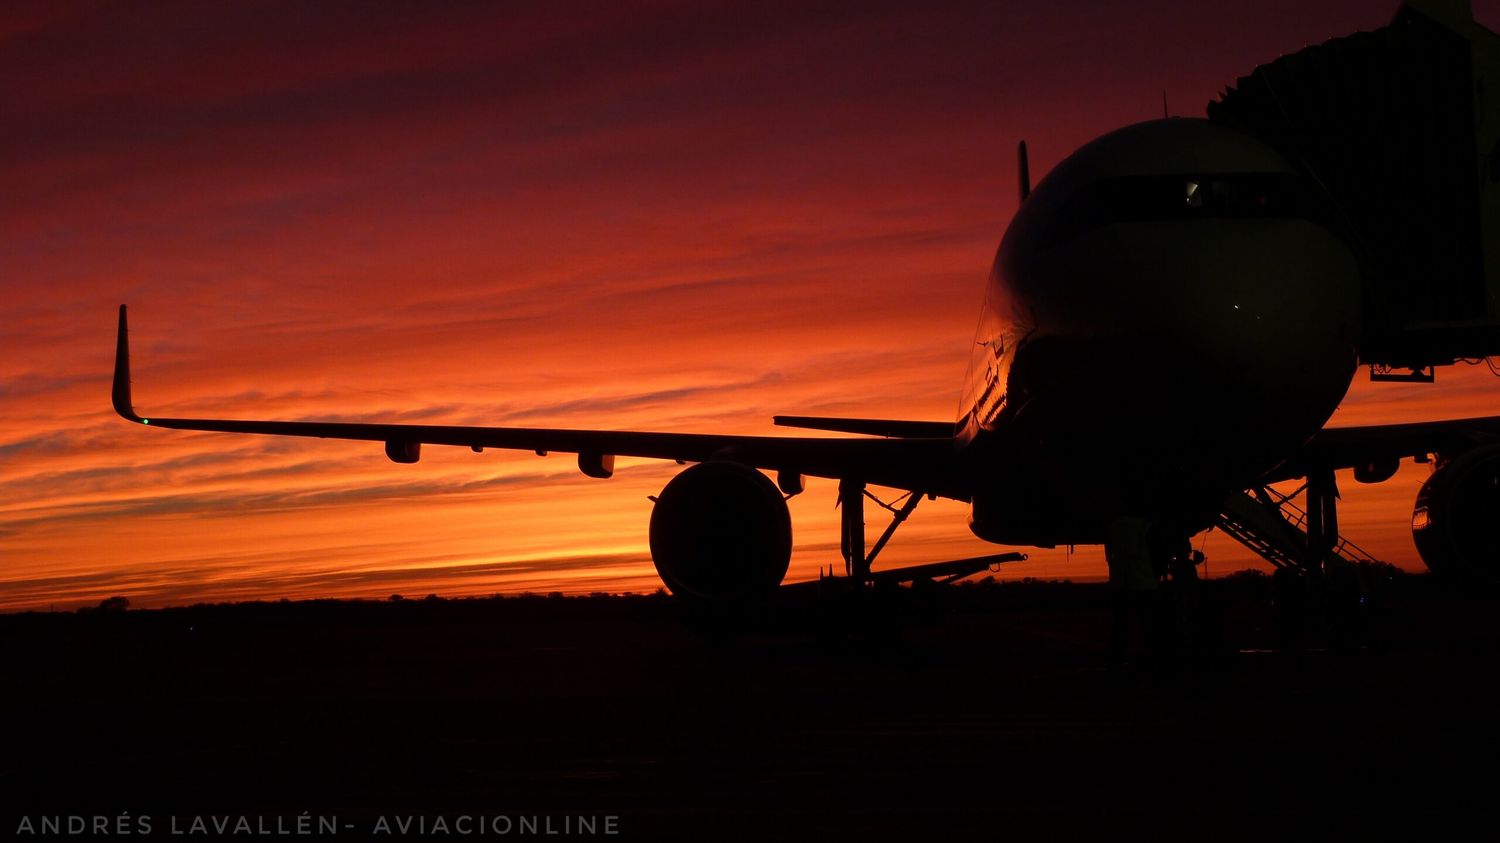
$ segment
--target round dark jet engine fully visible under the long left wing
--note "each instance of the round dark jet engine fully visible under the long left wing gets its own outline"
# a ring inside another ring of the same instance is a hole
[[[776,483],[738,462],[702,462],[662,489],[651,561],[676,597],[753,600],[792,561],[792,516]]]

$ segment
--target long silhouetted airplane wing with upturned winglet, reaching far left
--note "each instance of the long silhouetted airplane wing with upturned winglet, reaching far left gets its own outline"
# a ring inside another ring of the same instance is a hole
[[[130,348],[126,309],[120,306],[120,333],[114,362],[114,410],[129,422],[177,430],[219,430],[274,436],[366,440],[386,442],[398,462],[416,462],[422,444],[530,450],[579,454],[586,474],[608,477],[615,456],[706,462],[734,459],[754,468],[855,478],[878,486],[966,498],[956,470],[952,436],[783,438],[712,434],[652,434],[639,430],[570,430],[552,428],[468,428],[452,424],[363,424],[342,422],[268,422],[234,418],[142,417],[130,396]],[[592,471],[591,471],[592,466]]]

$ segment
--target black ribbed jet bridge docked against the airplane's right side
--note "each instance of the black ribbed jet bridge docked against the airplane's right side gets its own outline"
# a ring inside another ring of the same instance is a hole
[[[1262,64],[1208,116],[1280,148],[1336,206],[1372,376],[1500,354],[1500,36],[1467,0],[1412,0],[1386,27]]]

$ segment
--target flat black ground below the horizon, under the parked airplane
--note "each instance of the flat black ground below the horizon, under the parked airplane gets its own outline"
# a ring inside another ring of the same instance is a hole
[[[1102,586],[948,590],[892,634],[729,645],[658,597],[0,616],[0,824],[618,814],[638,838],[1200,838],[1492,825],[1500,598],[1396,578],[1353,633],[1107,669]],[[1212,640],[1212,638],[1209,639]],[[1332,646],[1323,646],[1332,640]],[[598,820],[602,822],[602,820]],[[140,826],[135,826],[140,831]],[[1486,832],[1488,834],[1488,832]],[[140,837],[140,834],[136,834]],[[477,834],[474,837],[478,837]],[[506,837],[528,838],[513,828]]]

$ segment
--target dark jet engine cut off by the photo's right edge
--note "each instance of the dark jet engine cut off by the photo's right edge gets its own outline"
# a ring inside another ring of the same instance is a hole
[[[1416,494],[1412,537],[1434,573],[1500,585],[1500,447],[1443,464]]]

